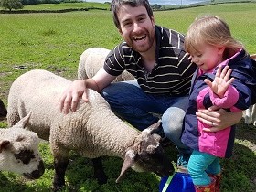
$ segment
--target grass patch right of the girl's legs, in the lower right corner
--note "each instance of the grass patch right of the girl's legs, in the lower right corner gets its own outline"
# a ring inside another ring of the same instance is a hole
[[[243,120],[237,125],[233,156],[221,159],[221,192],[256,191],[256,127]]]

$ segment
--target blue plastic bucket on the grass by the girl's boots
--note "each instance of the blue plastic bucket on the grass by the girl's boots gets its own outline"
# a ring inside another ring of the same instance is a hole
[[[176,172],[161,178],[159,192],[196,192],[192,178],[187,173]]]

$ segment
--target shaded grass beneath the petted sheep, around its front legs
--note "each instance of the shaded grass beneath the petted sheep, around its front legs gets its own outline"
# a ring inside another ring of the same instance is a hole
[[[166,150],[167,155],[176,159],[176,152],[171,147]],[[175,153],[175,156],[173,155]],[[70,162],[66,172],[65,191],[91,191],[91,192],[157,192],[160,177],[153,173],[139,173],[129,169],[120,183],[115,183],[121,172],[123,160],[118,157],[102,157],[102,163],[108,182],[99,185],[93,178],[93,167],[90,159],[80,155],[70,155]],[[172,164],[172,162],[170,162]],[[63,190],[64,191],[64,190]]]

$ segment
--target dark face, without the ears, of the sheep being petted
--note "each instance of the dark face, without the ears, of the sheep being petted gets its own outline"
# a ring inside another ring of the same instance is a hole
[[[142,141],[136,164],[144,171],[154,172],[157,176],[168,176],[174,173],[172,160],[167,158],[163,147],[153,136]]]

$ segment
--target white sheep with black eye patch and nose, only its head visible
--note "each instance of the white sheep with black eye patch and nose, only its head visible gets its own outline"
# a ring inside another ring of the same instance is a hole
[[[37,133],[24,129],[30,114],[11,128],[0,128],[0,170],[37,179],[44,174]]]

